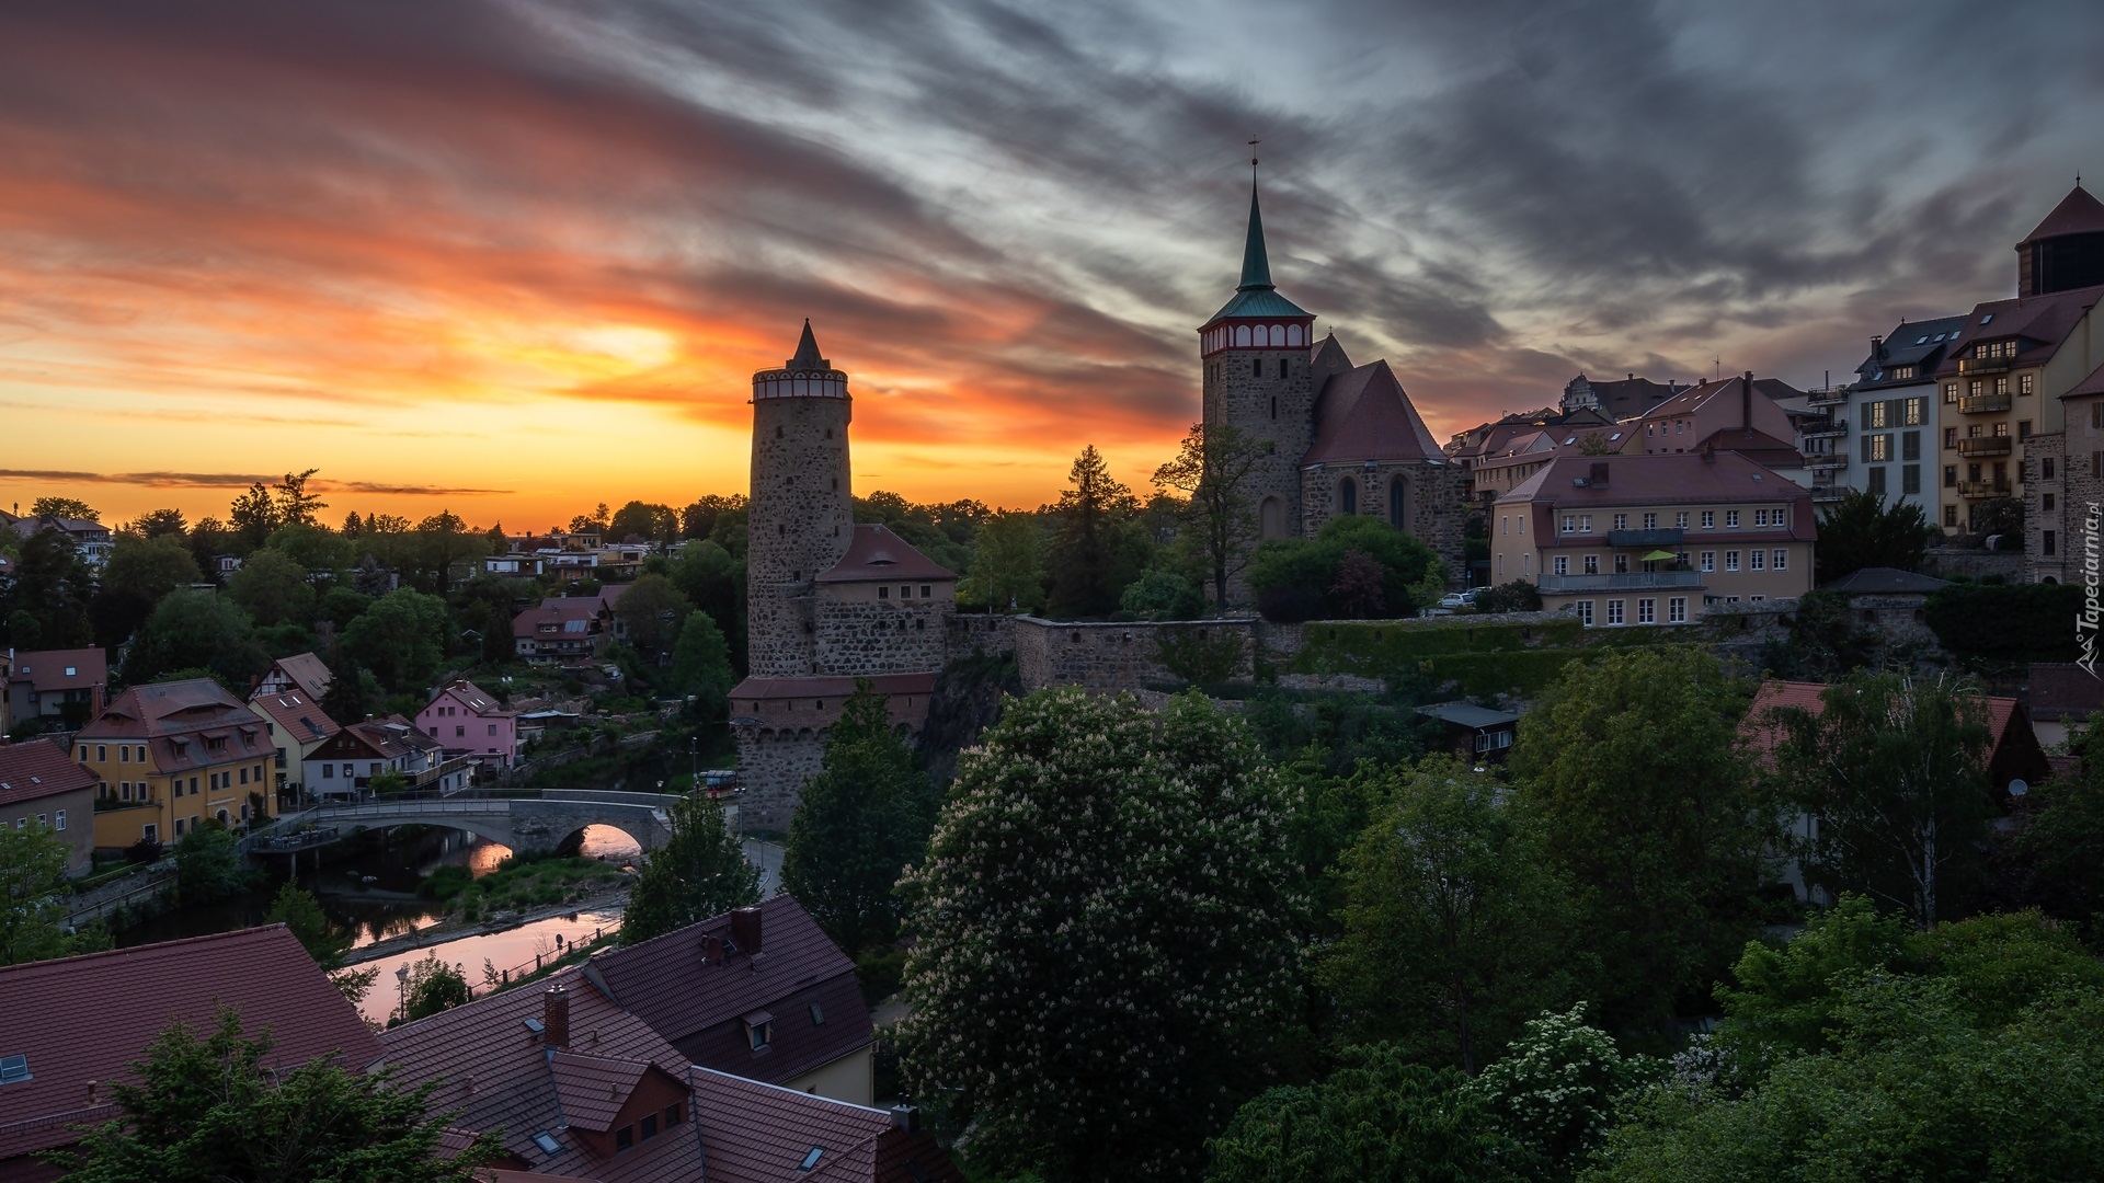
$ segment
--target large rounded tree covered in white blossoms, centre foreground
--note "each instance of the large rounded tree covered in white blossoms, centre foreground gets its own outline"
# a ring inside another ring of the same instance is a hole
[[[1180,1177],[1294,1048],[1290,800],[1203,695],[1014,701],[905,880],[901,1067],[989,1168]]]

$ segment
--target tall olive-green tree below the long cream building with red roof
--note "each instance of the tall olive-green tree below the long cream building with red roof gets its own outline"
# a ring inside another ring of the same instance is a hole
[[[1748,688],[1696,648],[1570,663],[1519,720],[1513,775],[1610,968],[1612,1025],[1671,1023],[1759,920],[1780,842],[1740,751]]]

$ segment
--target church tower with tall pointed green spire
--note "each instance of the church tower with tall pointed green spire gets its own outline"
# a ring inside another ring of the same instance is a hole
[[[1315,436],[1315,392],[1321,387],[1309,373],[1313,343],[1315,316],[1271,284],[1252,179],[1241,284],[1197,330],[1197,354],[1206,425],[1229,423],[1273,444],[1271,457],[1250,474],[1258,530],[1267,539],[1300,533],[1300,457]]]

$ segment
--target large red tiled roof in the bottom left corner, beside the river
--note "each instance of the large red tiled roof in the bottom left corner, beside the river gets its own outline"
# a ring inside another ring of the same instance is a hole
[[[114,1116],[109,1082],[177,1019],[202,1034],[234,1006],[246,1036],[271,1034],[278,1067],[337,1052],[358,1071],[381,1050],[284,924],[0,966],[0,1055],[29,1057],[29,1080],[0,1086],[0,1177],[6,1160],[72,1145],[69,1124]]]

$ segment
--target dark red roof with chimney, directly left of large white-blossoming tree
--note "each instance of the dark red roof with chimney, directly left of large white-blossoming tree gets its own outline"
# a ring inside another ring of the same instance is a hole
[[[781,1082],[867,1046],[869,1008],[854,962],[793,897],[762,903],[760,924],[757,956],[707,960],[703,937],[728,937],[726,914],[595,954],[591,966],[616,1002],[703,1067]],[[776,1017],[762,1050],[753,1050],[741,1021],[755,1010]]]

